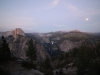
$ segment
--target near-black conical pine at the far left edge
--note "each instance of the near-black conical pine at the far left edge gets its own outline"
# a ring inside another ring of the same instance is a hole
[[[10,59],[10,55],[11,55],[11,52],[10,52],[10,49],[9,49],[9,46],[6,42],[6,39],[4,36],[2,36],[2,41],[1,41],[1,44],[0,44],[0,59],[2,61],[8,61]]]

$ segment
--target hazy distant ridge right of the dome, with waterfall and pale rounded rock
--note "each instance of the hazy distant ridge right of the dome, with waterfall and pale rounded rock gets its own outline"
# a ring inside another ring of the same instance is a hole
[[[95,43],[100,42],[99,34],[74,30],[69,32],[26,33],[26,36],[41,42],[53,57],[61,52],[69,52],[71,49],[79,47],[83,43],[87,46],[94,46]]]

